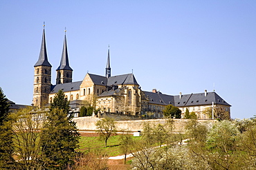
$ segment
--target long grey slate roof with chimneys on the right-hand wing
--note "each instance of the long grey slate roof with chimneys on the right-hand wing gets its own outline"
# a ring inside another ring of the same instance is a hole
[[[144,92],[145,97],[149,100],[149,103],[158,105],[174,105],[176,107],[194,106],[194,105],[212,105],[212,102],[216,105],[231,106],[226,103],[216,92],[207,92],[199,94],[185,94],[177,96],[171,96],[167,94]]]

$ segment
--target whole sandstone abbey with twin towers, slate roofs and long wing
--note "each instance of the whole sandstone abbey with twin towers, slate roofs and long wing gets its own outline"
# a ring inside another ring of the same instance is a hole
[[[39,59],[34,65],[33,105],[44,107],[53,101],[55,94],[62,90],[70,101],[71,109],[76,112],[84,103],[94,103],[95,109],[116,114],[151,115],[163,117],[166,105],[179,107],[184,116],[185,110],[194,111],[198,118],[209,118],[203,111],[208,107],[222,107],[230,114],[230,107],[216,92],[206,90],[199,94],[179,94],[171,96],[153,89],[152,92],[142,90],[134,74],[111,75],[110,52],[107,53],[105,75],[87,73],[82,81],[73,82],[73,69],[68,62],[66,34],[60,66],[57,67],[55,85],[51,83],[52,65],[46,52],[46,37],[43,30]]]

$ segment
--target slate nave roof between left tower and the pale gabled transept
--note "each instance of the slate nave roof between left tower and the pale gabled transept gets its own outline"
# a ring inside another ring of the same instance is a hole
[[[52,85],[51,86],[51,94],[55,94],[55,93],[59,92],[60,89],[63,92],[79,90],[81,83],[82,83],[82,81],[76,81],[76,82],[71,82],[71,83]]]

